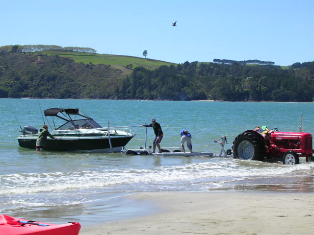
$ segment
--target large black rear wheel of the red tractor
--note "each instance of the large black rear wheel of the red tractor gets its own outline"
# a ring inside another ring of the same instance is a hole
[[[234,158],[242,160],[262,161],[265,151],[265,140],[262,135],[256,131],[245,131],[238,135],[233,142]]]

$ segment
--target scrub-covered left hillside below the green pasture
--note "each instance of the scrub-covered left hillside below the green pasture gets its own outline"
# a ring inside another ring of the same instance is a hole
[[[125,76],[110,65],[10,53],[0,56],[0,97],[111,98]]]

